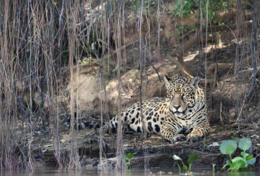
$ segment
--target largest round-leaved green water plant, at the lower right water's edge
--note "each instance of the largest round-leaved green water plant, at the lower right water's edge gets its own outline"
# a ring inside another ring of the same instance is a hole
[[[238,148],[242,150],[241,156],[232,158],[233,153],[237,150],[237,142],[235,140],[224,140],[220,145],[220,152],[224,155],[229,155],[229,159],[226,160],[223,168],[229,166],[229,170],[238,171],[239,169],[247,168],[250,165],[255,164],[256,158],[246,153],[248,149],[252,147],[252,141],[250,138],[242,138],[238,142]]]

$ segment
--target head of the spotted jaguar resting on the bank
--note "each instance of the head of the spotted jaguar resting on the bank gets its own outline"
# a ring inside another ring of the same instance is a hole
[[[196,90],[200,77],[192,79],[187,77],[174,77],[170,79],[164,76],[166,82],[167,96],[170,99],[169,110],[174,116],[185,116],[187,110],[196,105]]]

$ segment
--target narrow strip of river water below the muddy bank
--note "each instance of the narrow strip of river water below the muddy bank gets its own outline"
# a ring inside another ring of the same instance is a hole
[[[1,176],[174,176],[179,175],[176,170],[172,170],[170,168],[166,169],[151,169],[150,171],[144,170],[128,170],[128,171],[96,171],[96,170],[87,170],[80,169],[78,171],[66,171],[63,169],[57,168],[46,168],[46,167],[38,167],[35,168],[34,171],[1,171]],[[211,169],[208,171],[196,171],[194,173],[181,174],[181,175],[192,175],[192,176],[257,176],[260,173],[256,172],[246,172],[246,173],[229,173],[229,172],[217,172],[212,173]]]

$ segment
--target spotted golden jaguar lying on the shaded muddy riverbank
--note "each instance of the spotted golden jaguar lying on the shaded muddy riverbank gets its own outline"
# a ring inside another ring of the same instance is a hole
[[[109,127],[116,129],[118,120],[122,120],[130,129],[142,132],[161,134],[170,142],[187,139],[197,141],[209,133],[209,119],[205,95],[198,87],[199,77],[164,77],[167,88],[167,98],[147,99],[142,103],[142,117],[140,103],[135,103],[109,121]]]

